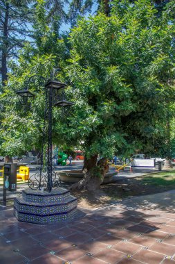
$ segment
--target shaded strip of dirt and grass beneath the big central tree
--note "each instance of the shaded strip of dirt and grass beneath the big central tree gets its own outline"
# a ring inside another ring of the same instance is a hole
[[[175,189],[175,172],[139,176],[119,180],[116,183],[101,185],[100,190],[74,190],[71,194],[77,197],[82,208],[101,208],[122,199],[139,195],[154,195],[159,192]]]

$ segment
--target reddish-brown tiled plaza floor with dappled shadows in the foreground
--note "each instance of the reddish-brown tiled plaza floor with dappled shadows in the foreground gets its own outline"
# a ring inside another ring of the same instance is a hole
[[[174,201],[175,192],[135,197],[50,225],[0,207],[0,263],[175,264]]]

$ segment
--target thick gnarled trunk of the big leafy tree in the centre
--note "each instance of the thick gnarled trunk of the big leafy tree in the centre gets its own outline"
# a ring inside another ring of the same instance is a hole
[[[105,174],[109,171],[107,158],[102,158],[98,161],[98,155],[84,159],[84,178],[78,183],[71,185],[71,190],[86,189],[90,191],[98,190],[102,183]]]

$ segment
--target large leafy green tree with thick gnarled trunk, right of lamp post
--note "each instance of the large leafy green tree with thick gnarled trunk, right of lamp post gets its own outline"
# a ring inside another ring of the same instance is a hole
[[[102,182],[98,154],[105,161],[114,149],[153,152],[165,139],[174,100],[173,5],[159,17],[150,1],[113,1],[110,17],[100,13],[73,29],[68,77],[77,104],[70,126],[84,142],[87,170],[77,188]]]

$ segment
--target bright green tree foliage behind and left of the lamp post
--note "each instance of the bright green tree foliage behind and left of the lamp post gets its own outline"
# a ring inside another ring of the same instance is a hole
[[[55,36],[53,24],[46,23],[46,10],[43,5],[44,1],[38,1],[36,7],[35,46],[27,42],[19,54],[18,64],[10,63],[12,72],[8,75],[8,85],[1,94],[1,155],[24,154],[24,151],[39,149],[42,144],[45,81],[39,76],[49,79],[53,68],[57,68],[58,62],[66,56],[62,38],[59,38],[58,33]],[[28,79],[36,74],[28,83]],[[61,74],[59,72],[58,76]],[[26,85],[35,94],[35,100],[30,101],[31,108],[21,106],[16,96],[17,90],[26,89]]]

